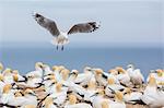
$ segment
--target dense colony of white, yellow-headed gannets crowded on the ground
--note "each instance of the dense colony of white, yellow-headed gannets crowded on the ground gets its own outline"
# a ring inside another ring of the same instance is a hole
[[[126,108],[127,104],[164,107],[164,70],[144,80],[128,64],[108,72],[85,67],[83,72],[37,62],[25,75],[0,63],[0,108]]]

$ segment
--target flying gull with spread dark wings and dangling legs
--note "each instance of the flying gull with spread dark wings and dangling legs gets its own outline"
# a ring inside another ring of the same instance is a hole
[[[57,50],[58,46],[62,46],[61,50],[63,50],[63,45],[69,43],[68,35],[75,33],[92,33],[99,27],[96,22],[80,23],[73,25],[69,32],[63,33],[58,29],[56,22],[50,19],[47,19],[38,13],[34,14],[34,19],[42,27],[49,31],[49,33],[54,36],[51,44],[57,46]]]

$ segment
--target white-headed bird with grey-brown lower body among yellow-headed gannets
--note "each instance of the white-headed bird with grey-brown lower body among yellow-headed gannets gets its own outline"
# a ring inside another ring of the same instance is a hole
[[[133,64],[128,64],[127,72],[129,73],[130,81],[134,86],[142,86],[144,83],[144,77],[140,71],[140,69],[134,69]]]

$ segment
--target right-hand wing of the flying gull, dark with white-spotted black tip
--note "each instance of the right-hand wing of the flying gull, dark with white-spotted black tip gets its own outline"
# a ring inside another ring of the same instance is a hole
[[[75,24],[69,29],[68,35],[74,33],[92,33],[96,31],[99,25],[97,25],[96,22]]]

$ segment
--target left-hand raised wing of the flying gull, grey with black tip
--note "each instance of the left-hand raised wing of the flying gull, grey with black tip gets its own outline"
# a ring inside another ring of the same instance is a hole
[[[49,20],[38,13],[34,14],[34,19],[40,26],[48,29],[52,36],[58,36],[60,34],[57,24],[52,20]]]

